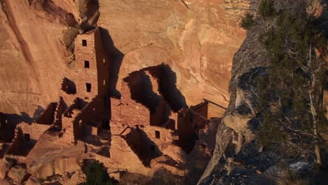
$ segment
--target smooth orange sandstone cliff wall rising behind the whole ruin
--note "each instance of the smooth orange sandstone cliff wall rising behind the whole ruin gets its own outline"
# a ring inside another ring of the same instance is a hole
[[[164,62],[177,74],[188,104],[206,97],[226,105],[231,59],[245,37],[240,12],[231,9],[236,5],[247,6],[224,0],[100,0],[99,11],[90,11],[82,0],[1,1],[0,111],[32,115],[38,105],[57,101],[70,57],[63,33],[83,20],[108,29],[123,53],[118,81]]]

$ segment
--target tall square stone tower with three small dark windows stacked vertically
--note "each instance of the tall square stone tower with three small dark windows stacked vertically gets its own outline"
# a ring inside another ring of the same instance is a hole
[[[76,64],[71,80],[76,85],[76,97],[91,100],[109,91],[109,57],[102,42],[100,28],[78,34],[74,41]]]

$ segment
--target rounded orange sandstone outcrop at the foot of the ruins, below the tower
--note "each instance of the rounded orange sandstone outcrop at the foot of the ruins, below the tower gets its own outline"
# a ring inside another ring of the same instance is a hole
[[[55,174],[81,169],[80,157],[85,151],[84,144],[78,142],[72,146],[57,137],[58,133],[47,130],[27,155],[27,171],[33,177],[46,179]]]

